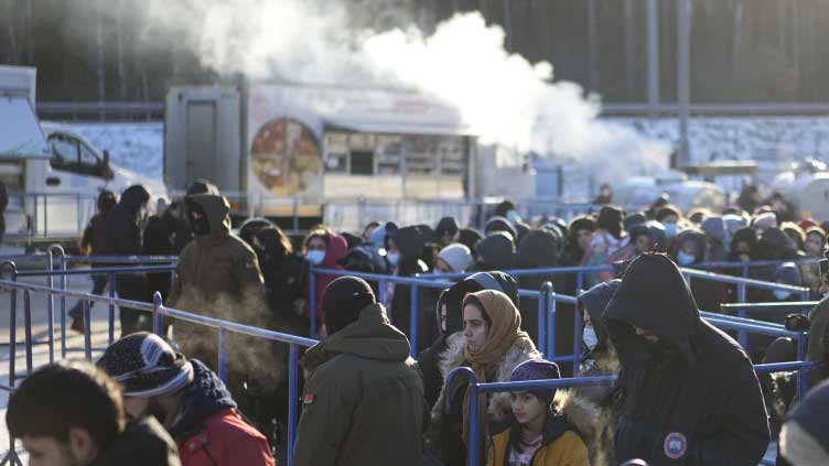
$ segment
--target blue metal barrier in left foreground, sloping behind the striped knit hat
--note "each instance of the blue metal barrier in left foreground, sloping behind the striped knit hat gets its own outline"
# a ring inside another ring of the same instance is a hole
[[[0,384],[0,389],[12,392],[17,388],[15,379],[15,356],[17,356],[17,337],[14,328],[17,328],[17,296],[18,292],[23,292],[23,315],[25,321],[25,370],[26,376],[31,375],[34,370],[33,365],[33,351],[32,351],[32,308],[31,308],[31,294],[45,294],[45,295],[58,295],[61,299],[76,299],[80,300],[84,310],[84,356],[87,360],[91,360],[93,357],[93,344],[91,344],[91,321],[89,313],[89,302],[107,303],[110,306],[125,306],[131,307],[147,313],[151,313],[153,316],[153,332],[161,335],[163,329],[164,317],[172,317],[179,321],[185,321],[198,325],[205,325],[212,328],[218,329],[218,375],[225,380],[227,375],[227,332],[234,332],[237,334],[248,335],[258,338],[266,338],[273,342],[281,342],[289,345],[289,370],[288,370],[288,465],[293,465],[293,447],[297,437],[297,401],[299,400],[299,347],[309,347],[317,343],[315,339],[303,338],[295,335],[283,334],[280,332],[267,330],[263,328],[257,328],[249,325],[237,324],[229,321],[223,321],[219,318],[206,317],[203,315],[164,307],[161,294],[155,293],[152,304],[121,300],[111,296],[99,296],[90,293],[75,292],[68,290],[58,290],[49,286],[22,283],[13,280],[0,280],[0,288],[6,289],[11,295],[11,334],[9,339],[9,384]],[[163,336],[163,335],[162,335]],[[51,360],[50,360],[51,361]],[[6,460],[14,462],[14,465],[21,465],[20,459],[14,452],[14,438],[10,438],[10,448],[6,456]],[[4,463],[3,463],[4,464]]]

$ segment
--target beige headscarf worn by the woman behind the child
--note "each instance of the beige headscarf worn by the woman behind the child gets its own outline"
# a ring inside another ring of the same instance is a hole
[[[473,304],[481,308],[489,318],[491,325],[486,335],[486,343],[478,351],[471,351],[467,347],[464,356],[472,370],[477,377],[478,383],[492,381],[498,369],[498,361],[513,347],[519,337],[527,337],[521,330],[521,314],[506,294],[495,290],[483,290],[470,293],[463,299],[463,306]],[[469,444],[469,389],[463,399],[463,441]],[[487,397],[481,395],[477,401],[478,422],[486,425]],[[478,445],[483,445],[484,430],[478,430],[481,438]]]

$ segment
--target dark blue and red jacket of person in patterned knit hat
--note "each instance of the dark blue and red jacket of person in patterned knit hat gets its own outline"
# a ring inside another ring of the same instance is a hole
[[[182,466],[274,466],[268,441],[241,419],[222,380],[202,361],[191,362],[193,382],[170,429]]]

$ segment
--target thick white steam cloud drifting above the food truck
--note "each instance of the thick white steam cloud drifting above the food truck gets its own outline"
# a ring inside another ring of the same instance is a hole
[[[507,53],[504,31],[480,13],[457,14],[427,36],[413,25],[366,29],[355,2],[348,4],[152,0],[146,36],[186,44],[219,74],[413,88],[456,108],[484,142],[575,160],[603,180],[666,167],[667,144],[599,121],[597,98],[585,98],[574,83],[553,82],[549,63]],[[363,7],[374,19],[395,17]]]

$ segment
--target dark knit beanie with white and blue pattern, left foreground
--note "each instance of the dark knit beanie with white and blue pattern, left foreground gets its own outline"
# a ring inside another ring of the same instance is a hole
[[[123,386],[125,397],[172,394],[193,381],[193,365],[160,336],[140,332],[107,348],[98,367]]]

